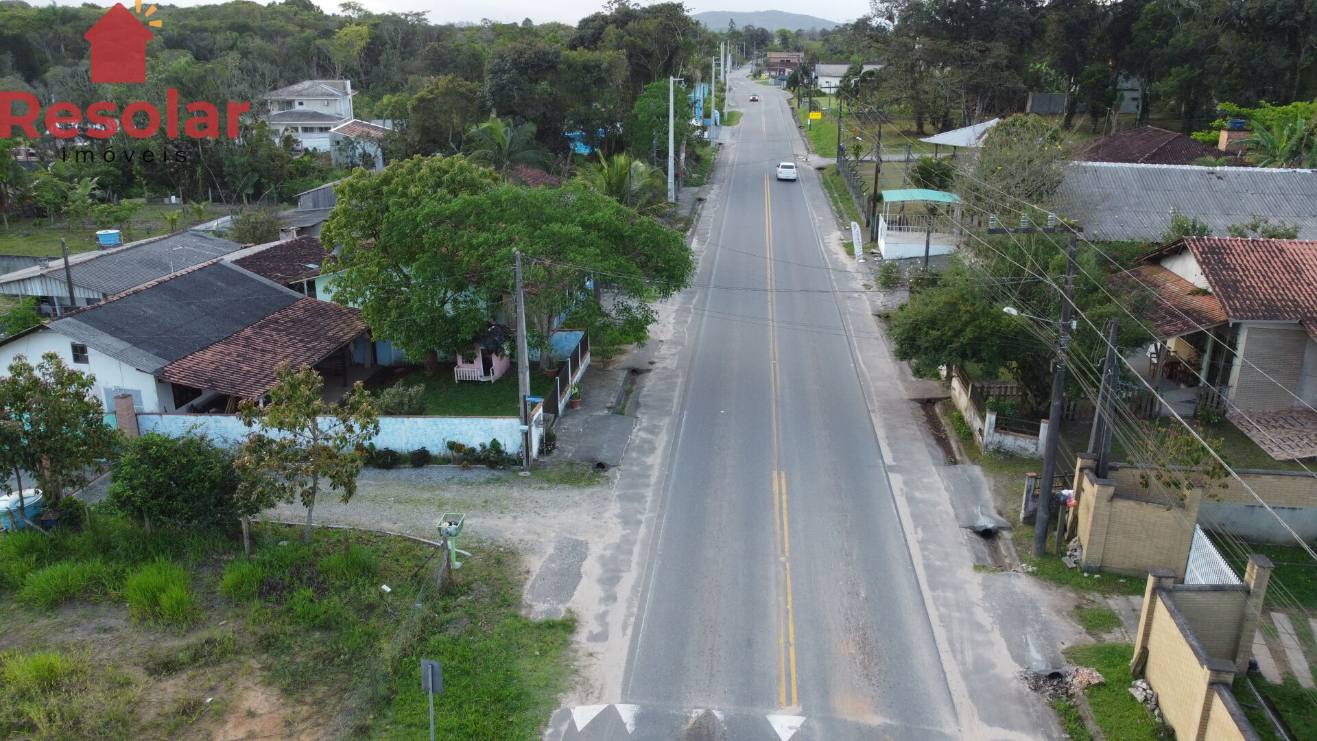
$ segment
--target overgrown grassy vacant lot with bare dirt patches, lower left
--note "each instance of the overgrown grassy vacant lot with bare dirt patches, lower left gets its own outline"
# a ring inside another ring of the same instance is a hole
[[[436,593],[435,548],[415,541],[315,530],[303,546],[265,523],[249,560],[233,534],[92,512],[82,533],[0,537],[0,736],[420,738],[424,657],[444,665],[443,737],[531,741],[569,683],[573,620],[518,612],[512,551],[468,539]]]

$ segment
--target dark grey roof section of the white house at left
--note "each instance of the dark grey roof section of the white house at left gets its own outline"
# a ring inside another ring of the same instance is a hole
[[[216,262],[70,312],[50,328],[158,374],[169,363],[299,299],[302,295],[278,283]]]

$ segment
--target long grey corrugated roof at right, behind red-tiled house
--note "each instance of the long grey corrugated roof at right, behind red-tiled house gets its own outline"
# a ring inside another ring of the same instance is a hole
[[[1172,208],[1201,219],[1213,235],[1258,215],[1314,239],[1317,170],[1069,162],[1056,191],[1056,212],[1090,239],[1160,239]]]

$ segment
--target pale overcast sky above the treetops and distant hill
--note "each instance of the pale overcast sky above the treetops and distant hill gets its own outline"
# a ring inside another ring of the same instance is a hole
[[[43,5],[47,0],[28,0],[33,5]],[[61,5],[80,5],[83,0],[57,0]],[[92,0],[97,5],[111,7],[116,0]],[[266,0],[258,0],[266,1]],[[483,0],[481,3],[436,3],[435,0],[360,0],[362,5],[375,12],[389,11],[428,11],[431,22],[452,21],[479,22],[491,18],[502,22],[520,22],[531,18],[535,22],[561,21],[576,25],[577,21],[603,8],[603,0]],[[338,9],[340,0],[312,0],[327,12]],[[641,0],[643,4],[648,4]],[[132,3],[125,1],[125,5]],[[166,3],[161,3],[166,4]],[[174,0],[171,5],[205,5],[198,0]],[[851,21],[869,12],[868,0],[815,0],[805,8],[793,8],[793,3],[765,5],[763,0],[707,0],[689,1],[691,12],[702,11],[772,11],[805,13],[830,21]]]

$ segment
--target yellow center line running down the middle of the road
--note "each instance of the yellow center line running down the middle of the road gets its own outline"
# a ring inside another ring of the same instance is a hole
[[[792,603],[792,525],[786,508],[786,472],[778,467],[777,405],[781,398],[781,380],[777,373],[777,306],[773,298],[773,210],[768,174],[764,174],[764,245],[768,260],[768,359],[769,382],[769,426],[773,438],[773,530],[776,534],[777,560],[782,564],[778,576],[777,612],[777,703],[782,708],[799,707],[799,691],[795,680],[795,610]],[[790,697],[790,703],[788,703]]]

